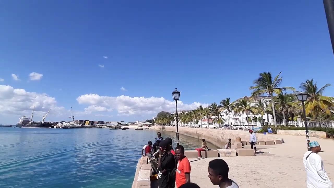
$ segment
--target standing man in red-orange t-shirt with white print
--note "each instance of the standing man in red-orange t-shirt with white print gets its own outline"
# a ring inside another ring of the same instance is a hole
[[[179,188],[185,183],[190,183],[190,163],[184,156],[184,148],[181,145],[175,148],[175,156],[179,159],[176,168],[176,188]]]

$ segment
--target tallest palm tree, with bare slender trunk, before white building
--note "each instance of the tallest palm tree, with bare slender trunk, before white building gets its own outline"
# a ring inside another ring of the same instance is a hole
[[[293,87],[279,87],[283,81],[283,77],[280,77],[282,72],[280,72],[273,80],[272,74],[268,72],[263,72],[259,74],[259,78],[253,82],[255,86],[249,87],[252,91],[252,96],[261,96],[267,94],[271,98],[271,103],[273,106],[273,114],[274,114],[274,124],[277,127],[276,123],[276,113],[275,113],[275,105],[274,105],[274,94],[280,94],[286,90],[295,91]]]

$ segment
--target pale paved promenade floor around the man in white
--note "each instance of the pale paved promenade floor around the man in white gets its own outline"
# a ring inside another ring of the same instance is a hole
[[[213,130],[213,129],[212,129]],[[235,130],[238,132],[238,130]],[[181,132],[180,132],[181,134]],[[240,188],[246,187],[306,187],[306,173],[303,155],[307,151],[306,136],[275,135],[284,138],[285,143],[279,145],[257,146],[263,152],[257,156],[220,158],[229,166],[229,177],[238,183]],[[334,182],[334,140],[310,137],[318,141],[322,151],[324,167],[329,178]],[[180,140],[182,145],[182,140]],[[249,146],[245,146],[248,148]],[[201,188],[216,187],[208,178],[208,163],[215,158],[190,159],[191,182]]]

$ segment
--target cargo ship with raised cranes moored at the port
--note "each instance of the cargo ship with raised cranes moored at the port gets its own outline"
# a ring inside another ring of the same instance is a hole
[[[50,109],[51,110],[51,109]],[[20,121],[16,124],[16,127],[19,128],[52,128],[54,125],[51,122],[44,122],[45,117],[50,112],[50,110],[43,116],[42,122],[32,121],[32,117],[34,115],[35,107],[32,110],[30,119],[27,116],[22,116]]]

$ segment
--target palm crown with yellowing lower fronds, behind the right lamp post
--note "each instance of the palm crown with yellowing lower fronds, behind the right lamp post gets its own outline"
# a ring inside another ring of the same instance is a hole
[[[300,84],[299,88],[301,88],[304,93],[310,95],[305,102],[306,114],[317,116],[317,114],[322,113],[322,111],[327,115],[331,114],[328,107],[333,106],[332,99],[330,97],[322,96],[322,93],[328,86],[330,86],[330,84],[325,84],[318,90],[317,82],[313,83],[313,79],[306,80],[304,83]]]

